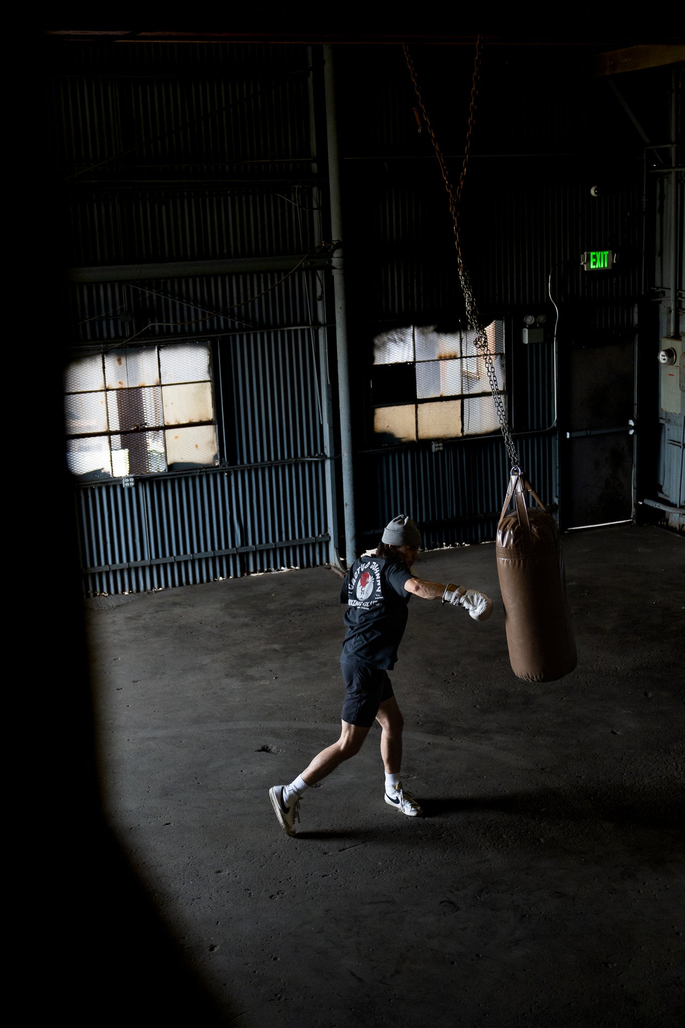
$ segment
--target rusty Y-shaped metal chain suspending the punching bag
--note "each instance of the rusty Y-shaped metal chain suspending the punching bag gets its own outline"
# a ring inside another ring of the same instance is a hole
[[[459,236],[459,200],[461,198],[461,192],[464,187],[464,180],[466,178],[466,167],[468,164],[468,154],[471,146],[471,138],[473,135],[473,124],[475,121],[475,98],[478,96],[478,82],[479,75],[481,71],[481,56],[483,51],[483,44],[481,37],[478,37],[475,42],[475,59],[473,61],[473,77],[471,80],[471,98],[470,106],[468,109],[468,128],[466,130],[466,143],[464,146],[464,159],[461,166],[461,175],[459,176],[459,185],[455,191],[450,180],[450,174],[447,170],[447,163],[445,161],[445,156],[440,148],[440,144],[435,138],[432,125],[430,124],[430,119],[425,109],[423,103],[423,97],[421,96],[421,90],[419,88],[419,82],[416,75],[416,69],[414,67],[414,62],[409,52],[409,47],[403,43],[403,49],[405,51],[405,59],[407,61],[407,67],[409,68],[409,74],[412,76],[412,82],[414,83],[414,91],[419,101],[419,106],[421,108],[421,113],[423,114],[423,120],[425,121],[426,128],[428,130],[428,135],[430,136],[430,142],[432,143],[433,150],[435,151],[435,156],[437,157],[437,163],[440,166],[441,174],[443,176],[443,181],[445,182],[445,188],[447,189],[447,195],[449,197],[450,213],[452,215],[452,220],[454,222],[454,245],[457,251],[457,269],[459,272],[459,283],[461,285],[461,291],[464,294],[464,303],[466,305],[466,320],[468,324],[475,329],[475,348],[481,354],[486,367],[486,372],[488,374],[488,382],[490,383],[490,391],[492,393],[492,399],[495,404],[495,411],[499,419],[499,426],[502,430],[502,437],[504,439],[504,444],[506,446],[506,451],[511,462],[512,468],[519,467],[519,455],[517,453],[517,448],[513,445],[513,439],[511,438],[511,433],[509,431],[509,426],[506,420],[506,411],[504,410],[504,404],[502,402],[502,395],[499,392],[499,384],[497,382],[497,373],[495,371],[495,362],[493,355],[490,353],[490,346],[488,345],[488,337],[486,335],[485,328],[481,322],[481,316],[479,314],[478,304],[475,302],[475,297],[473,296],[473,290],[471,289],[470,280],[468,278],[468,272],[464,264],[464,260],[461,254],[461,240]]]

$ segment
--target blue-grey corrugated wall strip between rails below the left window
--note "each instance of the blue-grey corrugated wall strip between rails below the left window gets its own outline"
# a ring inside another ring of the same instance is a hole
[[[86,588],[138,592],[329,559],[325,461],[86,486]]]

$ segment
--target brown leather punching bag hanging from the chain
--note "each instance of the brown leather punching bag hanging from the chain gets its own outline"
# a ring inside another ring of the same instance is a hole
[[[540,510],[526,505],[526,491]],[[497,525],[497,574],[513,673],[527,682],[563,678],[578,658],[559,529],[520,468],[511,469]]]

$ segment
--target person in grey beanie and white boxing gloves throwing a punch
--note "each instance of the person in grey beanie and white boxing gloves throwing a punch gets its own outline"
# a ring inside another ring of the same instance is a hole
[[[339,764],[358,754],[374,719],[381,726],[381,757],[385,767],[387,804],[403,814],[422,813],[413,796],[402,786],[402,730],[404,721],[387,672],[394,667],[397,647],[407,627],[412,596],[442,599],[463,607],[477,621],[487,621],[492,601],[475,589],[426,582],[412,575],[421,535],[406,514],[392,518],[372,556],[359,557],[347,572],[340,602],[347,604],[347,629],[340,657],[346,687],[342,731],[332,746],[322,749],[290,785],[273,785],[269,798],[283,832],[295,835],[300,820],[300,799],[305,791],[331,774]]]

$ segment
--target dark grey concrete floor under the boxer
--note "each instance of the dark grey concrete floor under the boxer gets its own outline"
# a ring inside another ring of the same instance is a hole
[[[109,910],[129,971],[154,935],[174,1009],[192,967],[186,1024],[680,1026],[684,543],[564,538],[579,663],[543,686],[509,668],[494,546],[424,554],[496,602],[483,625],[411,602],[392,678],[426,817],[383,802],[372,729],[293,840],[267,794],[337,737],[335,573],[87,600],[120,894],[152,900],[128,932]]]

